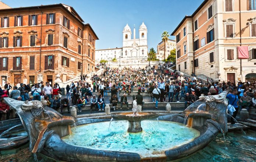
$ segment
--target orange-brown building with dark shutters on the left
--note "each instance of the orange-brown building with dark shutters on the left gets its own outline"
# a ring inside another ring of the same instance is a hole
[[[95,69],[95,40],[89,23],[65,4],[0,10],[0,77],[32,84],[65,82]]]

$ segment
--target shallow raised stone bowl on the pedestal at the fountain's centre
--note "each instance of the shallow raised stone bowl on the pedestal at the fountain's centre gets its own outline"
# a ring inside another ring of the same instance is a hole
[[[149,112],[149,113],[139,113],[136,116],[132,115],[133,112],[129,113],[111,113],[111,117],[115,120],[128,120],[128,121],[142,121],[142,120],[152,120],[159,117],[159,114]]]

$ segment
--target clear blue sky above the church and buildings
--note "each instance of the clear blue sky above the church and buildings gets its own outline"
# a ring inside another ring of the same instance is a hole
[[[169,34],[185,15],[191,15],[203,0],[1,0],[10,7],[27,7],[64,3],[72,6],[85,23],[90,23],[99,37],[96,49],[122,47],[122,30],[126,23],[136,27],[144,21],[147,26],[148,48],[156,50],[161,33]],[[133,29],[132,29],[133,30]],[[132,36],[133,38],[133,36]],[[174,37],[170,37],[174,39]]]

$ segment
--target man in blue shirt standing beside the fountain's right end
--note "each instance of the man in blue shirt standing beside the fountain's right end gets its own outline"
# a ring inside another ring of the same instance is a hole
[[[228,104],[231,104],[235,108],[235,112],[233,112],[233,115],[231,115],[233,118],[235,118],[238,113],[237,89],[233,89],[232,93],[230,93],[226,96],[226,99],[228,99]],[[233,118],[231,118],[231,124],[235,124],[235,120]]]

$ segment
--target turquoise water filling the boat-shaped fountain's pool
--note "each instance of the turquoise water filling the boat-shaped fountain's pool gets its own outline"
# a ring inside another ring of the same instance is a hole
[[[198,130],[169,121],[142,121],[143,131],[127,132],[128,121],[100,122],[72,128],[72,134],[62,138],[66,143],[92,148],[136,152],[142,158],[161,157],[170,148],[189,143],[200,135]]]

